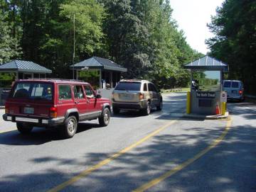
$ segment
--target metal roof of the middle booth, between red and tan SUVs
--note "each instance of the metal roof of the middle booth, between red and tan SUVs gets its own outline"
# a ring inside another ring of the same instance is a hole
[[[107,60],[101,57],[91,57],[87,60],[83,60],[82,62],[71,65],[70,69],[72,69],[73,67],[75,69],[82,69],[83,67],[88,67],[89,69],[106,69],[117,72],[127,72],[127,68],[124,68],[121,65],[112,62],[111,60]]]

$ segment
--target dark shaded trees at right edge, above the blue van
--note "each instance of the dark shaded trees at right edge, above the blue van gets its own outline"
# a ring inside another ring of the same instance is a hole
[[[256,1],[226,0],[216,9],[206,41],[210,55],[229,65],[228,79],[240,79],[245,91],[256,93]]]

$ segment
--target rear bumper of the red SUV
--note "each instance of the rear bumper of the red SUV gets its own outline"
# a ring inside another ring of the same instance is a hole
[[[27,118],[23,116],[16,116],[16,115],[9,115],[4,114],[3,119],[6,121],[11,122],[24,122],[24,123],[31,123],[33,125],[43,125],[43,126],[54,126],[54,125],[61,125],[64,123],[65,118]]]

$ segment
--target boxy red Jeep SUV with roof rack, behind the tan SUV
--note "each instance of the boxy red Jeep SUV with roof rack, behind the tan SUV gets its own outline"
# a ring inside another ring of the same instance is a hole
[[[99,118],[110,122],[110,100],[96,95],[90,84],[56,79],[18,80],[6,100],[4,120],[16,122],[21,133],[33,126],[61,125],[65,137],[73,137],[78,122]]]

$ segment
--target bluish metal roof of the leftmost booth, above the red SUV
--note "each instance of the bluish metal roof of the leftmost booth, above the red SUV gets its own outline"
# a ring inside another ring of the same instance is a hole
[[[47,73],[52,71],[34,62],[28,62],[23,60],[13,60],[5,64],[0,65],[0,72],[32,72],[32,73]]]

